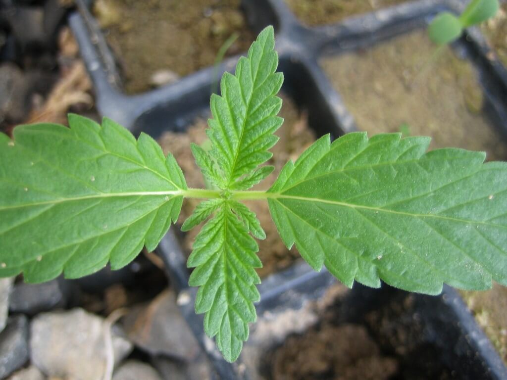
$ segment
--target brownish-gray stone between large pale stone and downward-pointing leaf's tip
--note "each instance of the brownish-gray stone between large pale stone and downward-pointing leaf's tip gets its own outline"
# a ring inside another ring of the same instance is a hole
[[[124,319],[124,327],[137,347],[154,356],[192,360],[200,351],[170,290],[160,293],[148,306],[134,309]]]

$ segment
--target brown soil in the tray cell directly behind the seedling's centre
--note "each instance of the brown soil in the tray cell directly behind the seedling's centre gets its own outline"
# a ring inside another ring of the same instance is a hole
[[[258,190],[269,188],[283,165],[289,159],[297,159],[303,150],[315,140],[313,131],[308,127],[306,113],[300,112],[287,96],[281,95],[280,97],[283,99],[283,105],[279,115],[284,118],[284,123],[276,133],[280,140],[271,149],[274,155],[268,162],[269,165],[275,167],[275,170],[266,180],[254,187]],[[198,119],[188,128],[187,133],[166,132],[159,139],[164,153],[167,154],[170,151],[182,167],[189,187],[205,187],[204,180],[195,164],[189,146],[191,142],[202,144],[207,139],[206,128],[206,121]],[[185,200],[178,224],[182,224],[190,216],[197,203],[199,203],[199,200]],[[300,258],[296,249],[287,250],[278,236],[276,226],[271,220],[267,202],[245,203],[257,214],[266,232],[266,239],[258,241],[258,255],[263,263],[263,268],[258,270],[259,276],[264,277],[270,273],[278,272]],[[195,228],[183,237],[183,247],[188,254],[192,250],[192,244],[199,231],[200,228]]]

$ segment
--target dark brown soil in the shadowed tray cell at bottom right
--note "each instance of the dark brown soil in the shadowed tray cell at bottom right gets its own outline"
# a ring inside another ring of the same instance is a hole
[[[317,311],[322,321],[293,335],[265,360],[273,380],[456,378],[439,362],[438,351],[423,339],[414,296],[400,292],[385,305],[356,315],[353,301],[338,298]],[[354,321],[351,323],[351,321]]]

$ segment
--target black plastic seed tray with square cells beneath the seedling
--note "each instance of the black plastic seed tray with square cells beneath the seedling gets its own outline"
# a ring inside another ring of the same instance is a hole
[[[276,33],[279,70],[284,72],[283,90],[300,108],[307,110],[309,125],[318,135],[337,137],[355,130],[352,116],[340,95],[318,65],[325,55],[366,49],[396,35],[423,28],[440,11],[459,13],[467,2],[461,0],[420,0],[351,17],[342,22],[308,28],[289,11],[282,0],[243,0],[250,28],[259,32],[272,24]],[[85,2],[77,0],[79,12],[71,15],[70,26],[78,40],[81,55],[91,75],[96,105],[103,116],[157,138],[165,130],[184,131],[198,115],[209,115],[210,88],[214,68],[197,71],[178,82],[139,95],[121,90],[115,58]],[[507,138],[507,70],[491,58],[490,48],[476,28],[467,31],[453,47],[470,60],[480,74],[490,122]],[[156,57],[154,57],[155,59]],[[224,60],[220,75],[233,70],[238,57]],[[208,353],[219,378],[259,378],[246,373],[241,363],[226,363],[202,329],[202,316],[193,308],[195,289],[188,287],[188,271],[182,249],[172,232],[162,240],[158,253],[164,259],[173,285],[179,291],[178,305],[202,347]],[[277,310],[300,309],[309,299],[322,295],[334,280],[329,273],[312,272],[306,264],[272,275],[260,285],[259,315]],[[403,292],[384,286],[380,290],[354,285],[347,302],[354,316],[367,308],[388,302]],[[489,340],[477,326],[457,293],[446,287],[441,296],[415,295],[417,313],[424,326],[424,341],[439,351],[441,360],[455,368],[459,378],[504,379],[507,369]],[[254,371],[255,372],[255,371]]]

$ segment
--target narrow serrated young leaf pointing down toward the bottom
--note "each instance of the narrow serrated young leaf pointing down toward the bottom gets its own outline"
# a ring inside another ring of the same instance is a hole
[[[199,286],[195,301],[197,313],[206,313],[204,330],[216,335],[216,344],[229,361],[241,353],[248,338],[248,322],[256,320],[253,302],[260,295],[255,268],[262,267],[256,255],[259,247],[238,219],[228,200],[197,235],[189,267],[196,267],[189,285]],[[237,205],[235,205],[237,206]]]

